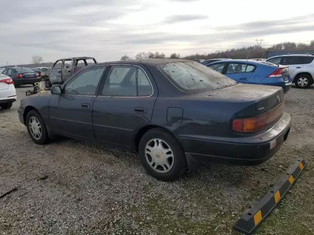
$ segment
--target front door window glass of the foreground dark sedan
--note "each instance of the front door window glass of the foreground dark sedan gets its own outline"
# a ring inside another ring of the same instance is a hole
[[[63,94],[95,95],[105,66],[79,71],[63,88]]]

